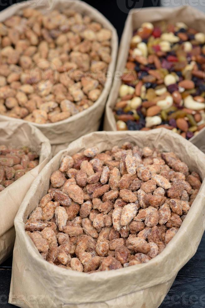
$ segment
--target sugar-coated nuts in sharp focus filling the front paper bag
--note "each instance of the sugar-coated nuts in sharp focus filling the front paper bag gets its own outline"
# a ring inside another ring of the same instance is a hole
[[[65,156],[25,223],[41,256],[80,272],[148,262],[179,230],[201,179],[172,152],[131,143]]]

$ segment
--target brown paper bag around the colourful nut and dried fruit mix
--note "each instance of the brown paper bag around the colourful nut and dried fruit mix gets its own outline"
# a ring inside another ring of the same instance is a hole
[[[133,30],[139,28],[140,25],[145,21],[158,22],[160,20],[167,20],[167,22],[172,24],[177,21],[182,21],[193,29],[205,32],[205,14],[190,6],[183,6],[180,8],[142,8],[140,10],[133,9],[128,14],[123,35],[120,41],[116,66],[116,71],[118,73],[123,73],[127,63]],[[113,81],[112,89],[108,96],[108,102],[106,104],[104,130],[117,130],[116,121],[113,115],[113,108],[118,98],[118,90],[120,85],[120,78],[115,78]],[[193,142],[197,146],[202,146],[202,141],[198,143],[196,139],[203,140],[204,134],[205,129],[202,129],[197,136],[193,136],[189,141]]]

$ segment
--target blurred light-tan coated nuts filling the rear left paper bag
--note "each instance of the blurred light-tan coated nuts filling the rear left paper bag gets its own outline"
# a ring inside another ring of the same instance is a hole
[[[27,8],[0,23],[0,114],[45,124],[90,107],[106,81],[111,36],[69,9]]]

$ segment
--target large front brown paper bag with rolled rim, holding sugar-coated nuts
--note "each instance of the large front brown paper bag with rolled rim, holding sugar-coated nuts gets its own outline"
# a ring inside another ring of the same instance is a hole
[[[97,145],[100,151],[131,141],[135,145],[175,151],[191,171],[205,177],[205,155],[192,143],[166,129],[148,132],[94,132],[59,152],[33,182],[15,218],[16,242],[9,303],[35,308],[155,308],[163,301],[177,272],[195,254],[205,229],[205,181],[186,219],[166,249],[148,263],[87,274],[45,261],[25,233],[25,221],[49,188],[52,172],[65,155]]]

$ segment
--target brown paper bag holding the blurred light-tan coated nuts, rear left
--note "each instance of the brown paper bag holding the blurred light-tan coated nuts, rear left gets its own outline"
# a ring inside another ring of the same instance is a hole
[[[73,115],[72,117],[59,121],[56,123],[48,124],[35,124],[42,133],[50,140],[51,145],[61,145],[64,143],[70,143],[76,140],[82,135],[89,132],[96,131],[99,128],[100,120],[103,115],[105,103],[112,85],[113,74],[115,70],[116,57],[118,51],[118,36],[113,25],[95,8],[83,1],[79,0],[30,0],[22,3],[13,4],[9,8],[6,8],[0,13],[0,22],[13,14],[18,14],[24,8],[39,9],[41,12],[48,14],[49,11],[55,9],[70,8],[79,13],[87,14],[93,20],[101,23],[105,28],[112,31],[111,48],[112,60],[108,66],[108,78],[105,82],[104,89],[98,100],[88,109]],[[6,119],[12,121],[12,118],[0,115],[0,121]],[[26,122],[24,120],[18,120],[19,122]]]

